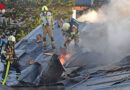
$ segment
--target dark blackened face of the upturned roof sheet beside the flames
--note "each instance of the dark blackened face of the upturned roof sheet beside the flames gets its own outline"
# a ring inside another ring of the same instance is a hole
[[[54,84],[56,83],[61,74],[63,73],[64,68],[60,63],[59,56],[54,54],[48,64],[45,72],[40,78],[40,84]]]

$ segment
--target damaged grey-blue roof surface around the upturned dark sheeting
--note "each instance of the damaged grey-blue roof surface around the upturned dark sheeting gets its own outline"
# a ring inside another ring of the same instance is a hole
[[[80,26],[83,28],[86,24],[81,24]],[[55,26],[57,27],[57,26]],[[54,40],[56,43],[57,49],[60,48],[60,46],[64,43],[63,36],[61,34],[60,28],[56,28],[54,31]],[[30,34],[28,34],[26,37],[24,37],[20,42],[16,44],[16,53],[17,56],[20,58],[20,65],[22,68],[22,72],[26,68],[30,66],[29,61],[34,60],[34,62],[37,62],[39,60],[48,60],[50,56],[43,55],[42,51],[42,43],[36,42],[36,36],[42,34],[42,28],[41,26],[38,26],[36,29],[34,29]],[[47,42],[49,43],[49,38],[47,38]],[[49,46],[51,47],[51,46]],[[79,54],[80,52],[80,54]],[[130,66],[128,64],[130,58],[126,57],[122,60],[122,62],[119,62],[118,64],[114,65],[107,65],[103,66],[102,64],[95,65],[93,63],[90,63],[90,67],[86,67],[85,65],[81,65],[81,61],[91,61],[94,56],[99,57],[99,54],[93,53],[93,52],[84,52],[79,51],[75,56],[78,57],[78,59],[75,59],[74,56],[70,59],[68,64],[65,66],[66,71],[68,71],[69,78],[61,79],[59,83],[62,83],[63,85],[59,85],[59,90],[64,90],[63,86],[65,87],[65,90],[129,90],[130,88]],[[84,57],[84,55],[87,55],[88,58]],[[81,58],[82,57],[82,60]],[[102,56],[100,56],[102,57]],[[100,60],[100,59],[99,59]],[[42,63],[44,63],[42,61]],[[87,62],[87,63],[89,63]],[[124,63],[126,62],[126,63]],[[91,67],[91,64],[93,65]],[[9,78],[14,77],[14,72],[9,76]],[[7,81],[7,85],[11,86],[11,81],[15,81],[14,83],[17,83],[16,80],[9,79]],[[52,86],[53,87],[53,86]],[[2,90],[26,90],[27,87],[19,87],[19,89],[15,86],[13,88],[1,86]],[[21,89],[20,89],[21,88]],[[42,90],[45,88],[43,87],[37,87],[39,90]],[[27,90],[35,90],[34,88],[29,87]],[[54,90],[54,89],[52,89]]]

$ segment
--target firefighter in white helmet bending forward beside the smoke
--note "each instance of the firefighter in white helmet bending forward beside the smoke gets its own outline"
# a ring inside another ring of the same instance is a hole
[[[70,42],[74,40],[75,46],[79,47],[79,34],[78,31],[78,24],[74,24],[74,22],[71,20],[69,23],[64,23],[62,26],[62,34],[65,38],[65,43],[62,47],[68,48]]]

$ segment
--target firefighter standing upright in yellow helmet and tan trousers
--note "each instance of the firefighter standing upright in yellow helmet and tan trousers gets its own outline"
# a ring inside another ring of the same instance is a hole
[[[55,49],[55,42],[54,42],[53,33],[52,33],[52,30],[54,30],[54,21],[53,21],[51,12],[48,11],[47,6],[42,7],[42,13],[40,14],[40,19],[41,19],[42,28],[43,28],[43,47],[44,47],[44,50],[46,50],[46,46],[47,46],[47,44],[46,44],[47,33],[51,39],[52,48]]]

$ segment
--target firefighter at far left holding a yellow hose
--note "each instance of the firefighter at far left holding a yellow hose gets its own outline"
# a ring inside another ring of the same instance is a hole
[[[5,47],[2,47],[1,61],[4,64],[4,71],[2,73],[2,85],[6,84],[7,76],[9,73],[10,66],[16,69],[16,79],[20,76],[20,65],[18,63],[18,58],[15,54],[15,37],[10,36]]]

